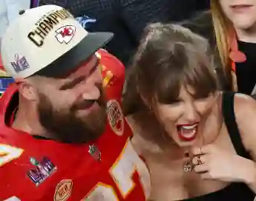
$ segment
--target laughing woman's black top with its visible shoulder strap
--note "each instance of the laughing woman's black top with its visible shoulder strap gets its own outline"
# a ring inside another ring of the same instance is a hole
[[[240,132],[234,116],[234,92],[225,92],[223,94],[223,117],[232,140],[235,151],[241,157],[251,159],[243,146]],[[220,191],[212,192],[200,197],[186,199],[184,201],[253,201],[255,194],[244,183],[231,183]]]

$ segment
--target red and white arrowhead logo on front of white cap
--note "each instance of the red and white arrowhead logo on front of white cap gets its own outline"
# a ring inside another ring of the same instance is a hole
[[[73,25],[67,25],[65,27],[60,27],[58,30],[56,30],[56,38],[59,41],[59,43],[63,44],[68,44],[72,38],[73,35],[75,35],[76,32],[76,27]]]

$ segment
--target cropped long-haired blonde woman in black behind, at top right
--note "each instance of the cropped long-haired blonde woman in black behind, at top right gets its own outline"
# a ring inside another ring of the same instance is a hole
[[[211,19],[208,16],[211,16]],[[211,20],[213,27],[209,26]],[[208,33],[214,32],[214,45],[232,83],[232,89],[254,95],[256,0],[211,0],[211,14],[205,13],[187,22],[183,25],[211,41],[212,36]]]

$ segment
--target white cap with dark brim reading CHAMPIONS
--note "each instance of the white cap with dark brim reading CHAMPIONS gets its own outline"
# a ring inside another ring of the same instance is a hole
[[[1,41],[1,59],[13,78],[61,77],[113,37],[88,33],[64,8],[45,5],[20,12]]]

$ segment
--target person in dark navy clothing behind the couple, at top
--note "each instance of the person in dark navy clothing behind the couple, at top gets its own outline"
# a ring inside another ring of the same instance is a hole
[[[39,4],[56,4],[76,17],[86,14],[95,18],[93,23],[86,23],[87,27],[91,31],[113,32],[115,37],[106,49],[128,66],[147,24],[184,20],[204,9],[205,1],[208,0],[39,0]]]

